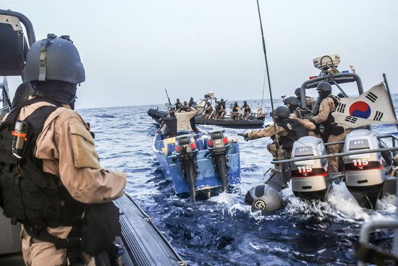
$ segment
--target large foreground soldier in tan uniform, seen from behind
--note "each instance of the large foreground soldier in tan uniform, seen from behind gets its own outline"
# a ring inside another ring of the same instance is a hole
[[[33,98],[0,124],[0,203],[5,216],[22,223],[26,265],[93,264],[80,250],[83,212],[119,198],[125,188],[125,174],[101,168],[88,124],[73,111],[84,80],[69,37],[48,34],[33,43],[23,68]],[[23,147],[14,147],[11,132],[26,136]]]

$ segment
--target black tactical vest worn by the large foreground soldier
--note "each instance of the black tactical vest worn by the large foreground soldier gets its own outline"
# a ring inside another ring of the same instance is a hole
[[[4,215],[35,228],[75,225],[83,214],[84,204],[75,201],[58,176],[43,172],[43,161],[34,156],[36,140],[44,122],[58,107],[38,107],[23,122],[28,124],[21,159],[13,155],[16,117],[22,107],[34,102],[51,102],[33,98],[15,107],[0,124],[0,203]],[[51,102],[53,103],[53,102]]]

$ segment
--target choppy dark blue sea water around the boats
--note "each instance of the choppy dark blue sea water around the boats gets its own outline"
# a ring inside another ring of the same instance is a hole
[[[397,95],[394,102],[398,103]],[[248,104],[256,110],[261,100]],[[270,102],[265,106],[269,110]],[[271,139],[245,142],[237,133],[246,129],[225,129],[230,139],[239,139],[241,183],[207,201],[178,198],[152,152],[157,127],[147,110],[157,107],[164,105],[78,112],[95,133],[101,166],[127,173],[126,191],[189,265],[354,265],[352,251],[362,223],[395,215],[395,196],[382,198],[377,211],[367,210],[358,206],[344,183],[332,187],[326,202],[306,203],[288,187],[283,190],[285,208],[272,213],[252,211],[244,197],[271,167],[272,157],[266,151]],[[394,125],[375,130],[397,132]],[[377,230],[372,243],[388,250],[392,235],[392,230]]]

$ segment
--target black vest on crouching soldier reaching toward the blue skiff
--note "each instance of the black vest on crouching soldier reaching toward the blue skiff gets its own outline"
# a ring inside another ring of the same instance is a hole
[[[300,137],[308,136],[308,131],[305,130],[305,127],[303,127],[297,119],[288,118],[278,122],[277,124],[288,132],[287,136],[280,137],[280,143],[283,146],[283,149],[291,150],[293,148],[293,143],[296,140],[300,139]]]

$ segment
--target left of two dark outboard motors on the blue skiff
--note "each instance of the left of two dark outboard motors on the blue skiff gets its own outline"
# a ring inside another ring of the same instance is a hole
[[[192,134],[185,134],[176,137],[175,149],[177,159],[180,162],[182,174],[189,183],[189,193],[191,194],[192,199],[195,201],[197,196],[195,179],[197,176],[196,159],[198,155],[198,148],[197,144],[195,143],[194,136],[192,136]]]

